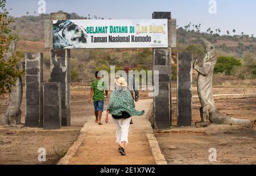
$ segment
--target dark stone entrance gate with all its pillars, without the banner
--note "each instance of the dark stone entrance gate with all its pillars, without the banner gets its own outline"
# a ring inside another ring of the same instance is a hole
[[[153,114],[155,121],[154,126],[156,129],[170,129],[172,121],[171,57],[172,51],[177,50],[176,19],[171,19],[171,12],[153,12],[152,18],[168,19],[168,48],[153,48],[153,71],[159,72],[159,94],[153,98]],[[71,51],[70,49],[53,49],[52,31],[52,20],[68,19],[70,19],[69,14],[56,12],[51,13],[51,19],[46,20],[45,23],[45,48],[50,49],[51,53],[51,82],[60,83],[60,85],[44,86],[49,88],[44,88],[43,90],[43,56],[41,54],[32,55],[32,53],[30,53],[30,55],[26,55],[26,70],[38,70],[38,72],[26,75],[26,90],[28,90],[26,91],[26,97],[32,96],[35,100],[34,104],[32,102],[26,102],[26,126],[43,127],[45,120],[43,119],[44,115],[52,116],[52,119],[47,119],[53,122],[47,123],[49,124],[49,127],[44,128],[58,128],[60,119],[55,117],[57,116],[55,112],[59,112],[59,114],[61,114],[62,126],[67,127],[71,125]],[[183,63],[190,63],[190,65]],[[190,95],[187,93],[188,91],[192,91],[192,56],[181,55],[181,61],[179,61],[179,64],[183,65],[178,67],[178,76],[180,79],[177,79],[177,117],[178,125],[183,126],[189,125],[187,122],[189,120],[191,121],[192,109],[190,112],[189,110],[186,111],[185,114],[181,113],[179,110],[181,110],[183,108],[182,106],[186,103],[187,105],[191,105],[191,98],[189,98],[189,96],[192,96],[192,94]],[[36,91],[36,93],[38,93],[36,95],[32,95],[30,91],[35,90],[33,88],[34,83],[39,85],[36,88],[36,90],[38,90]],[[56,89],[53,89],[54,86]],[[54,90],[61,90],[61,93],[57,94]],[[48,95],[48,97],[43,97],[43,91],[52,91],[52,94]],[[57,95],[59,95],[59,97]],[[43,99],[46,100],[43,102]],[[57,101],[60,99],[61,105],[57,106]],[[43,107],[47,107],[48,111],[43,111]],[[55,116],[52,114],[55,114]],[[31,121],[33,123],[31,123]],[[51,124],[55,125],[51,126]]]

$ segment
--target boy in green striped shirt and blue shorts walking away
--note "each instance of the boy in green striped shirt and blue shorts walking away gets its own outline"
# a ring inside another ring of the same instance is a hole
[[[106,85],[105,81],[101,79],[100,73],[95,73],[96,80],[93,81],[90,85],[90,94],[88,102],[92,102],[92,95],[93,95],[93,106],[94,106],[94,114],[96,117],[95,122],[99,125],[102,125],[101,123],[101,116],[102,112],[104,111],[104,99],[105,94],[106,97],[108,97],[108,85]],[[104,94],[105,90],[105,94]]]

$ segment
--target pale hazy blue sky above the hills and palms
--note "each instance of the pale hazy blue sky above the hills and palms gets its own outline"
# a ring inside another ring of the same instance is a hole
[[[7,0],[12,8],[10,15],[22,16],[28,11],[38,15],[39,0]],[[255,0],[216,0],[217,14],[209,14],[210,0],[44,0],[46,12],[76,12],[82,16],[96,15],[105,19],[151,19],[153,11],[171,11],[177,25],[202,24],[201,31],[208,27],[220,28],[232,34],[254,34],[256,36]],[[215,31],[214,31],[215,32]]]

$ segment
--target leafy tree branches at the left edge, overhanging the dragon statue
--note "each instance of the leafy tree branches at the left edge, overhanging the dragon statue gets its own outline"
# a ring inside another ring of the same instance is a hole
[[[5,53],[8,52],[8,45],[13,37],[10,36],[10,24],[14,22],[13,18],[8,18],[9,12],[5,9],[6,0],[0,0],[0,97],[11,92],[11,86],[15,85],[16,77],[22,73],[16,69],[19,59],[11,56],[9,60],[5,59]]]

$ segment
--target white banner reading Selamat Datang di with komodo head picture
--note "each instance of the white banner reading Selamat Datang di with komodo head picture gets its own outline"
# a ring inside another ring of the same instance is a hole
[[[53,20],[53,48],[167,48],[168,20]]]

